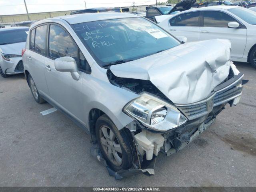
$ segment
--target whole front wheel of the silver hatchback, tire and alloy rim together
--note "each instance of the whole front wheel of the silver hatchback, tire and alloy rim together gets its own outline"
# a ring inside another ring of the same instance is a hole
[[[96,122],[96,137],[104,158],[113,170],[124,170],[132,166],[132,140],[127,130],[118,131],[104,114]]]

